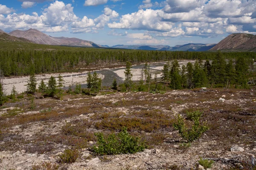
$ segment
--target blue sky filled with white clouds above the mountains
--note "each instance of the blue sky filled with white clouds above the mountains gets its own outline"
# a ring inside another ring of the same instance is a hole
[[[256,34],[256,0],[0,0],[0,29],[99,45],[218,43]]]

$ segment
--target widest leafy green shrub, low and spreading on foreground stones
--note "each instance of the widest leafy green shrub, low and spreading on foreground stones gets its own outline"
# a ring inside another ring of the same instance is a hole
[[[123,127],[117,135],[110,134],[107,139],[102,133],[96,133],[95,136],[98,138],[98,142],[93,146],[93,152],[99,155],[136,153],[147,147],[139,137],[131,136],[126,127]]]

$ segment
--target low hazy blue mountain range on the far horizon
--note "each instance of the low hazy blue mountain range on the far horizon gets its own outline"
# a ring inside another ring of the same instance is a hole
[[[170,47],[169,45],[114,45],[110,48],[124,48],[136,50],[158,50],[158,51],[208,51],[216,44],[185,44]],[[104,47],[105,45],[102,45]]]

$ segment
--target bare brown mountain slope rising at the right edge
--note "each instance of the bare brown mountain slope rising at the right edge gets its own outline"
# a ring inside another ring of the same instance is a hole
[[[210,49],[210,51],[217,50],[256,51],[256,35],[244,33],[230,34]]]

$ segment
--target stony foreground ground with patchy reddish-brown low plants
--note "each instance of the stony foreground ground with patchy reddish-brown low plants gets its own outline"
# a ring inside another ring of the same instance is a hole
[[[253,169],[255,89],[66,95],[63,101],[46,98],[34,103],[29,99],[25,96],[1,107],[1,170],[192,170],[200,158],[222,159],[215,161],[213,170]],[[191,147],[180,147],[184,141],[172,124],[178,114],[186,118],[186,111],[196,110],[203,112],[200,122],[207,121],[209,130]],[[109,134],[122,126],[145,140],[148,149],[114,156],[91,152],[95,132]],[[79,150],[76,162],[58,163],[65,149]]]

